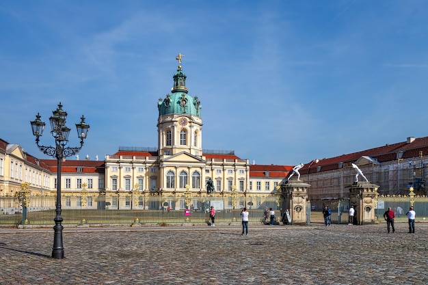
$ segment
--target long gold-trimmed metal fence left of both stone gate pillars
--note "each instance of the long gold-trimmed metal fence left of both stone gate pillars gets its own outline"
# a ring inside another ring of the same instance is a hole
[[[14,196],[0,197],[0,225],[52,225],[55,196],[31,196],[25,202]],[[275,197],[191,197],[142,195],[82,195],[62,197],[63,224],[162,224],[209,223],[209,208],[215,221],[241,221],[241,208],[250,211],[250,221],[260,222],[265,208],[277,208]]]

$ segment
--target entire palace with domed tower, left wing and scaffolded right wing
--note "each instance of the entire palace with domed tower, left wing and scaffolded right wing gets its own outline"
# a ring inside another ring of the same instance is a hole
[[[235,151],[202,148],[201,101],[189,94],[181,55],[176,59],[178,68],[171,92],[157,102],[157,148],[120,147],[103,161],[88,157],[63,161],[63,195],[86,191],[90,195],[119,197],[137,192],[158,196],[159,201],[174,201],[174,197],[185,193],[193,198],[239,195],[245,197],[245,203],[254,200],[254,206],[260,206],[268,196],[278,198],[279,185],[293,165],[250,164]],[[427,153],[428,137],[409,137],[397,144],[314,159],[304,164],[299,173],[301,180],[310,185],[309,200],[316,208],[347,200],[346,187],[356,176],[351,163],[358,165],[370,182],[379,185],[379,195],[407,195],[410,188],[418,195],[427,195]],[[18,144],[0,139],[0,195],[15,195],[23,183],[28,183],[31,194],[55,195],[57,161],[38,159]],[[212,184],[212,193],[207,193],[207,183]],[[239,202],[239,206],[244,205]]]

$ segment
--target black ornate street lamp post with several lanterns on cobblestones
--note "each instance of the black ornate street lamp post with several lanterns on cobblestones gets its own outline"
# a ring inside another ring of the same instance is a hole
[[[36,144],[41,152],[47,154],[51,157],[57,159],[57,202],[56,202],[56,216],[53,221],[55,221],[55,226],[53,230],[55,231],[53,236],[53,248],[52,248],[52,257],[53,258],[64,258],[64,246],[62,244],[62,217],[61,217],[61,163],[62,160],[66,157],[71,157],[81,150],[83,146],[83,139],[86,138],[89,131],[89,125],[85,123],[85,117],[81,117],[81,122],[76,124],[77,136],[80,139],[79,148],[66,148],[68,143],[68,135],[70,134],[70,128],[66,126],[67,112],[62,109],[61,103],[58,104],[58,107],[53,111],[53,116],[49,118],[51,122],[51,134],[55,139],[55,147],[53,146],[40,146],[39,139],[43,134],[44,122],[40,120],[40,115],[36,115],[36,120],[31,121],[31,128],[33,130],[33,135],[36,136]]]

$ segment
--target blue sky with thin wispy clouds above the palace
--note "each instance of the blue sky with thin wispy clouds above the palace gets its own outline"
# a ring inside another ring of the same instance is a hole
[[[157,147],[178,53],[204,149],[297,165],[426,137],[427,35],[422,0],[0,0],[0,137],[48,158],[29,122],[53,144],[61,102],[81,158]]]

